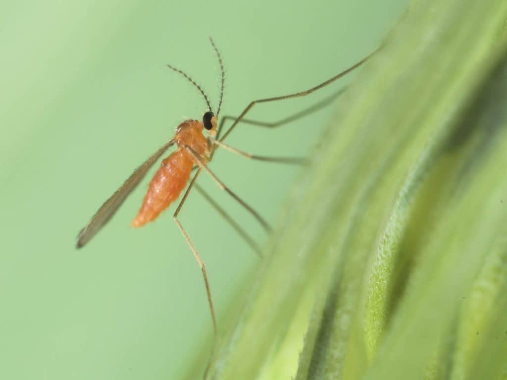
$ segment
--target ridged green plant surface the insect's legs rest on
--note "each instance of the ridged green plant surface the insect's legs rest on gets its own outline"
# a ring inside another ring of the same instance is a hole
[[[340,102],[207,378],[505,378],[506,20],[499,0],[412,4]]]

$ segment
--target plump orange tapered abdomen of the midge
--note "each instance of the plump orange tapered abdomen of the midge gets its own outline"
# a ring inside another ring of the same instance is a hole
[[[163,210],[169,207],[185,188],[190,178],[192,165],[192,158],[183,148],[177,149],[162,160],[159,170],[150,182],[142,206],[131,225],[140,227],[157,218]]]

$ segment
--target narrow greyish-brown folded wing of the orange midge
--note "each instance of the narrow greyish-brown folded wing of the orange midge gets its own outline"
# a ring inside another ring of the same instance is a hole
[[[148,160],[134,170],[132,175],[120,186],[120,188],[104,202],[98,211],[93,215],[90,222],[79,233],[77,248],[83,247],[91,238],[102,228],[102,226],[111,219],[115,212],[120,208],[123,201],[132,193],[133,189],[146,175],[146,172],[153,164],[164,154],[164,152],[174,144],[174,140],[166,142],[159,150],[157,150]]]

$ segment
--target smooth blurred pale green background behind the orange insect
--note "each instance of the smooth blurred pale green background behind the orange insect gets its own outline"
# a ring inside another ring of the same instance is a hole
[[[223,115],[300,91],[373,51],[407,6],[371,2],[4,3],[0,14],[0,378],[178,378],[211,336],[201,272],[171,218],[130,229],[148,180],[83,250],[78,231],[132,170],[205,103],[165,67],[186,70]],[[286,117],[335,92],[258,105]],[[311,153],[333,107],[277,130],[240,126],[228,140],[254,154]],[[220,152],[215,173],[276,224],[300,169]],[[153,172],[153,170],[152,170]],[[150,174],[152,173],[150,172]],[[255,237],[255,220],[203,186]],[[221,316],[258,259],[194,192],[181,215]]]

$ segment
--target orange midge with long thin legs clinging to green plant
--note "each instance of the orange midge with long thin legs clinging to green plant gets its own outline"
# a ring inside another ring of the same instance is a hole
[[[261,161],[270,161],[270,162],[278,162],[278,163],[287,163],[287,164],[301,164],[303,160],[299,158],[286,158],[286,157],[264,157],[264,156],[256,156],[245,153],[239,149],[236,149],[230,145],[226,145],[224,140],[229,136],[229,134],[234,130],[236,125],[239,122],[244,122],[253,125],[259,125],[264,127],[277,127],[278,125],[287,123],[296,119],[296,117],[289,117],[280,121],[278,123],[265,123],[258,122],[254,120],[244,119],[246,113],[257,103],[266,103],[273,102],[284,99],[291,99],[295,97],[306,96],[318,89],[321,89],[336,80],[342,78],[345,74],[359,67],[361,64],[366,62],[372,54],[360,60],[356,64],[347,68],[346,70],[338,73],[334,77],[318,84],[315,87],[312,87],[308,90],[277,96],[272,98],[265,98],[251,101],[240,113],[238,117],[225,116],[221,119],[219,126],[217,127],[217,122],[219,120],[220,110],[222,106],[222,100],[224,95],[224,82],[225,82],[225,74],[224,74],[224,64],[222,60],[222,56],[214,41],[210,37],[211,46],[218,58],[221,70],[221,90],[220,90],[220,100],[218,107],[216,108],[216,113],[213,112],[210,102],[206,93],[203,89],[184,71],[179,70],[171,65],[167,65],[171,70],[183,75],[204,97],[204,100],[207,105],[207,111],[204,112],[204,115],[201,120],[186,120],[181,123],[175,131],[174,137],[162,145],[148,160],[146,160],[141,166],[134,170],[131,176],[120,186],[120,188],[109,198],[104,204],[99,208],[99,210],[93,215],[90,222],[81,230],[78,236],[78,240],[76,243],[77,248],[81,248],[86,245],[95,234],[111,219],[111,217],[115,214],[118,208],[122,205],[125,199],[129,196],[129,194],[133,191],[133,189],[139,184],[144,175],[148,172],[148,170],[158,161],[162,155],[169,149],[169,147],[176,145],[177,148],[173,153],[171,153],[167,158],[163,159],[160,165],[160,168],[155,173],[153,179],[150,182],[148,191],[146,196],[144,196],[144,200],[142,205],[137,213],[137,215],[132,220],[131,225],[134,227],[142,226],[149,221],[154,220],[159,216],[159,214],[165,210],[169,205],[174,202],[183,192],[185,186],[187,185],[192,171],[196,170],[194,176],[192,177],[190,184],[187,186],[187,190],[183,195],[182,200],[180,200],[176,210],[173,214],[174,221],[178,226],[179,231],[183,234],[187,244],[189,245],[192,253],[194,254],[195,259],[199,263],[199,266],[202,271],[204,284],[206,288],[206,294],[209,303],[209,310],[211,313],[211,318],[213,322],[213,329],[216,333],[216,317],[213,307],[213,301],[211,297],[211,290],[209,286],[208,276],[206,273],[206,267],[204,265],[203,260],[199,256],[197,249],[195,248],[192,240],[184,229],[183,225],[180,223],[178,219],[179,212],[182,210],[183,205],[189,195],[191,189],[195,186],[199,192],[201,192],[204,197],[212,203],[212,205],[219,210],[221,214],[228,216],[224,213],[220,206],[214,203],[209,196],[204,192],[200,186],[196,184],[197,177],[202,171],[207,172],[211,178],[220,186],[224,191],[226,191],[229,195],[231,195],[239,204],[241,204],[250,214],[255,217],[259,223],[264,227],[266,231],[270,231],[271,228],[269,224],[259,215],[255,209],[249,206],[245,201],[239,198],[234,192],[231,191],[229,187],[227,187],[224,182],[222,182],[216,175],[208,168],[208,163],[213,158],[213,154],[218,147],[222,147],[224,149],[230,150],[233,153],[236,153],[240,156],[244,156],[253,160],[261,160]],[[303,113],[308,113],[313,111],[312,109],[308,109],[306,111],[300,112],[297,117],[303,115]],[[227,120],[232,120],[233,123],[229,127],[229,129],[221,135],[222,128]],[[204,136],[203,132],[207,133],[207,136]],[[231,221],[229,219],[229,221]],[[240,227],[236,224],[236,230],[247,240],[247,242],[252,246],[252,248],[256,249],[255,243],[251,240],[248,240],[244,232],[240,229]]]

